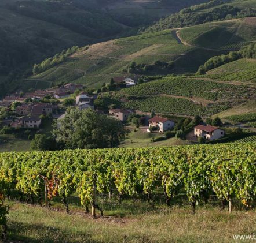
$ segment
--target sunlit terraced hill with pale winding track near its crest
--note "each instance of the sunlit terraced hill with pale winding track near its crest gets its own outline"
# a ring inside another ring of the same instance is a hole
[[[158,69],[151,74],[193,73],[210,57],[227,53],[224,49],[228,48],[224,47],[228,46],[231,38],[237,42],[232,48],[237,49],[241,44],[253,41],[256,36],[254,23],[256,18],[220,21],[94,44],[88,50],[75,53],[68,61],[31,79],[52,83],[67,81],[86,84],[88,87],[100,87],[101,84],[108,83],[111,77],[127,74],[127,68],[132,62],[137,65],[152,65],[155,61],[174,61],[174,68]],[[240,25],[243,28],[237,28]],[[218,35],[213,29],[218,29]],[[244,36],[244,29],[247,29],[248,36]],[[221,38],[224,32],[230,35],[226,42]],[[202,36],[207,36],[208,39]],[[214,47],[210,48],[210,42],[214,43]]]

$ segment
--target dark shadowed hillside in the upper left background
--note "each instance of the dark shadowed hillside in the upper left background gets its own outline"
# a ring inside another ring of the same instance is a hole
[[[34,63],[72,46],[137,33],[141,25],[205,0],[174,1],[0,1],[0,77],[5,92],[31,74]],[[19,42],[17,42],[19,40]],[[10,84],[10,81],[13,81]]]

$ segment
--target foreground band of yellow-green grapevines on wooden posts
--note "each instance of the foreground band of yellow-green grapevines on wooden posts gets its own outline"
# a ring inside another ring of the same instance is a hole
[[[96,196],[113,189],[133,198],[143,193],[150,203],[162,190],[167,204],[185,189],[194,210],[212,193],[250,207],[255,171],[256,143],[0,154],[0,185],[7,196],[13,189],[31,197],[47,190],[48,200],[61,197],[68,211],[67,197],[78,193],[86,211],[93,206],[93,215],[100,209]]]

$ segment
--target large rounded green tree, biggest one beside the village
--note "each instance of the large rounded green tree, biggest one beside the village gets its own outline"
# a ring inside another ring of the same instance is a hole
[[[125,139],[126,130],[117,119],[76,107],[67,109],[65,117],[54,126],[53,134],[65,149],[113,148]]]

